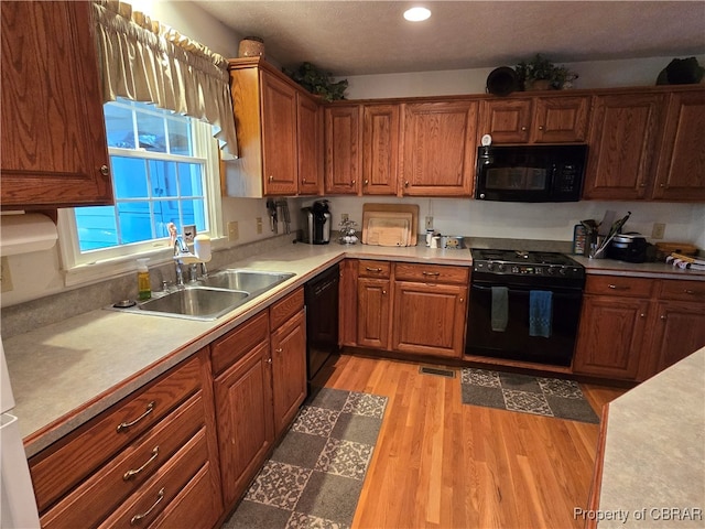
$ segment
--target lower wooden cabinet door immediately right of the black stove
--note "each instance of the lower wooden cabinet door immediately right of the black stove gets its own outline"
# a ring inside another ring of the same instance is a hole
[[[634,379],[643,354],[648,312],[649,300],[586,295],[573,370]]]

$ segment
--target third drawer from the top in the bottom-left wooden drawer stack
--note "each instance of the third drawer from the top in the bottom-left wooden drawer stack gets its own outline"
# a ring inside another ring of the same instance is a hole
[[[106,529],[149,527],[204,466],[210,468],[205,428],[199,430],[174,457],[98,527]],[[199,506],[199,509],[204,515],[203,507]],[[131,522],[135,517],[140,518]],[[196,527],[206,526],[198,523]]]

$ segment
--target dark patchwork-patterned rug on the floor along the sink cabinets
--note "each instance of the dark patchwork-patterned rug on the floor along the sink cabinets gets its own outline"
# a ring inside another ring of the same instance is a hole
[[[386,407],[387,397],[319,389],[223,528],[350,527]]]

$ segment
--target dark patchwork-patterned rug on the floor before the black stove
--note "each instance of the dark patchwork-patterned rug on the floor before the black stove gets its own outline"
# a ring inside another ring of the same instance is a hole
[[[599,423],[574,380],[463,368],[463,403]]]

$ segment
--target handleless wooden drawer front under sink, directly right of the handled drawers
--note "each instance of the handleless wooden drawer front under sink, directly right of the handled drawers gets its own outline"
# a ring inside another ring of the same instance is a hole
[[[221,374],[257,345],[267,341],[269,341],[269,314],[262,311],[210,345],[214,376]]]

